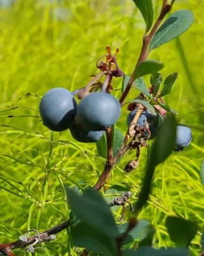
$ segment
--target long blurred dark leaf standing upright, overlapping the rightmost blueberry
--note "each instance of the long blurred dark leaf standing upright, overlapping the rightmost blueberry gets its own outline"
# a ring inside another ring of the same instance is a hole
[[[155,167],[157,164],[165,161],[175,147],[176,134],[177,124],[175,122],[175,117],[168,116],[157,131],[156,140],[151,150],[149,163],[147,164],[147,171],[143,179],[142,190],[138,196],[138,202],[136,202],[135,205],[137,212],[142,209],[149,198]]]

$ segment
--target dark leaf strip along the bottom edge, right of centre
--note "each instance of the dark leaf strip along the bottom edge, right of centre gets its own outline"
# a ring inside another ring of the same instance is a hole
[[[156,250],[150,246],[143,246],[138,250],[123,250],[122,256],[189,256],[189,248],[160,248]]]

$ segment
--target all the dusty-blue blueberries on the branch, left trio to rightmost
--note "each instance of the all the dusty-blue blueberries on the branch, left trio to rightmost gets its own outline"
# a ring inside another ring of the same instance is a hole
[[[138,110],[131,111],[127,117],[127,125],[131,124]],[[49,90],[40,102],[40,114],[45,124],[52,131],[69,129],[75,140],[80,142],[98,141],[106,128],[119,119],[120,102],[113,95],[105,92],[92,92],[77,104],[74,96],[65,88]],[[149,124],[150,139],[156,136],[159,127],[156,125],[157,114],[143,111],[137,124],[145,127]],[[148,132],[143,135],[147,138]],[[187,147],[192,140],[192,132],[188,127],[177,126],[175,151]]]

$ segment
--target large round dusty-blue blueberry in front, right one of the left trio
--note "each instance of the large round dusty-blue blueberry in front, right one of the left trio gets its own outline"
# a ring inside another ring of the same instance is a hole
[[[87,131],[101,131],[115,124],[120,116],[119,100],[109,93],[92,92],[77,106],[77,117]]]

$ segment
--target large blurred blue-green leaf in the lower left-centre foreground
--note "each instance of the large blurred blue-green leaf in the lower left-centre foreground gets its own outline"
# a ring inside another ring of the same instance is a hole
[[[87,188],[83,195],[79,195],[72,189],[67,189],[67,195],[73,214],[79,220],[99,230],[105,236],[116,237],[118,235],[110,207],[98,191]]]

